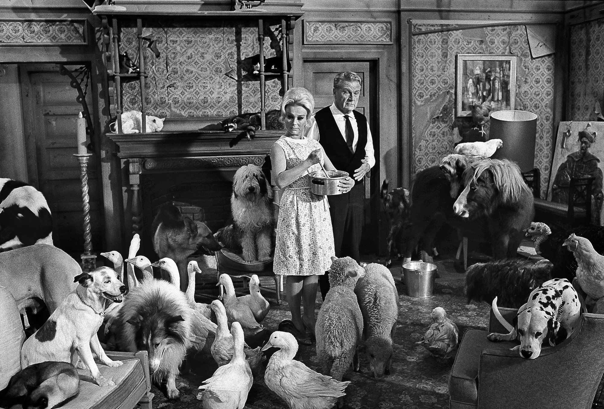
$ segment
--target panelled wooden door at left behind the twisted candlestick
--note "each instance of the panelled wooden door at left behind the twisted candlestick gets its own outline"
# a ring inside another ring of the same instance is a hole
[[[21,65],[25,140],[30,184],[46,197],[53,214],[54,245],[77,256],[84,249],[82,184],[77,153],[76,119],[82,105],[69,77],[54,64]],[[90,90],[86,97],[92,108]],[[88,162],[92,249],[101,249],[100,181],[96,155]]]

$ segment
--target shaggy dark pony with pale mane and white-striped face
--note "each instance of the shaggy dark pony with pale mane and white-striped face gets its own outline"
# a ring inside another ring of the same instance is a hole
[[[465,188],[453,205],[455,214],[486,217],[495,260],[515,257],[522,231],[535,215],[533,194],[518,165],[506,159],[478,160],[466,169],[463,182]]]

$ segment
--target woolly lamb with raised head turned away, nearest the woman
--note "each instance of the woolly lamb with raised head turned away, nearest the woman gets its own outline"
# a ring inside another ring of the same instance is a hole
[[[350,257],[332,257],[330,289],[316,319],[316,356],[321,373],[342,381],[353,363],[359,368],[358,345],[363,332],[363,316],[356,301],[356,281],[365,275],[363,267]],[[338,407],[344,399],[338,399]]]

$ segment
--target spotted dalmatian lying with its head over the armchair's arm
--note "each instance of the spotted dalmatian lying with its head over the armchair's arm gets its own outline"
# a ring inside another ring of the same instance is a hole
[[[520,356],[535,359],[541,353],[541,344],[548,341],[556,345],[567,339],[580,322],[581,304],[573,285],[566,279],[554,278],[545,281],[533,290],[528,301],[518,310],[512,327],[501,316],[497,308],[497,297],[493,299],[493,313],[501,324],[509,330],[507,334],[490,333],[489,341],[513,341],[520,345]]]

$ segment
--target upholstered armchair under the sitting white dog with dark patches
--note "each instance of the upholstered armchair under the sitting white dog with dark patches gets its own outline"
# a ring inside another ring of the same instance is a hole
[[[0,390],[11,376],[21,370],[21,346],[25,333],[17,303],[5,287],[0,286]],[[150,393],[149,360],[147,352],[107,352],[109,358],[124,364],[109,368],[98,363],[98,369],[115,386],[100,387],[92,381],[88,369],[78,370],[80,392],[76,398],[62,406],[63,409],[151,409],[153,393]],[[15,406],[21,408],[21,405]]]

